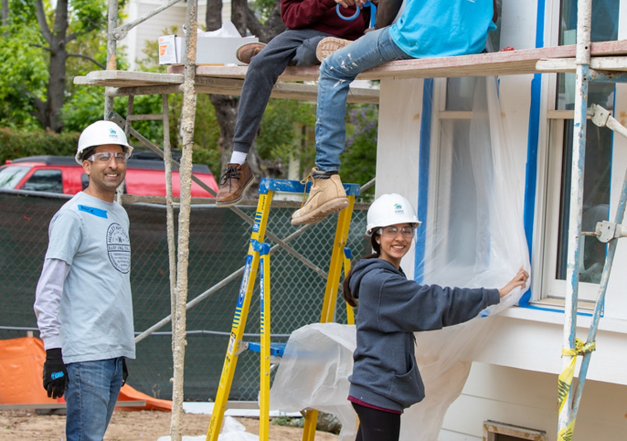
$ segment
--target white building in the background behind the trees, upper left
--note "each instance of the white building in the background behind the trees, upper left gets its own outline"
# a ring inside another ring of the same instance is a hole
[[[137,19],[165,3],[167,3],[166,0],[130,0],[127,6],[127,21]],[[198,23],[203,25],[205,22],[206,0],[200,0],[198,3]],[[129,70],[137,70],[137,61],[145,58],[144,48],[146,41],[156,41],[159,36],[164,35],[165,29],[172,26],[178,26],[179,35],[182,35],[182,25],[186,22],[186,11],[187,4],[181,1],[166,9],[166,11],[144,21],[144,23],[136,26],[129,32],[127,38],[121,43],[122,46],[125,46],[125,51],[128,55]],[[223,1],[222,19],[224,21],[230,18],[231,2]]]

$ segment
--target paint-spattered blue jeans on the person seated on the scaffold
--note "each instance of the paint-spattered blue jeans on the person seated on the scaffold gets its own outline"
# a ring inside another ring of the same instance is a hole
[[[321,171],[338,171],[344,151],[346,96],[352,80],[386,61],[408,60],[389,35],[389,27],[367,33],[335,51],[322,62],[315,123],[315,164]]]

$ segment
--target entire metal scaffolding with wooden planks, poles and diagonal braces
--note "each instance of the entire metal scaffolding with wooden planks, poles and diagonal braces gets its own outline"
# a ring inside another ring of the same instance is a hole
[[[172,321],[172,352],[174,354],[174,378],[173,378],[173,404],[172,404],[172,420],[171,420],[171,439],[172,441],[181,440],[181,417],[182,417],[182,382],[183,382],[183,361],[185,353],[185,335],[186,335],[186,309],[198,304],[201,300],[206,299],[209,295],[219,289],[219,287],[227,284],[231,280],[241,277],[244,268],[240,268],[237,272],[224,279],[219,284],[206,290],[196,299],[187,302],[187,255],[189,240],[189,214],[191,211],[191,182],[201,185],[209,193],[214,191],[202,183],[199,179],[192,176],[192,143],[194,134],[194,116],[196,114],[196,92],[201,93],[228,93],[241,88],[242,70],[238,68],[224,68],[227,72],[221,75],[219,68],[198,67],[196,60],[196,29],[198,24],[198,0],[187,0],[187,21],[186,30],[189,38],[186,39],[184,68],[182,69],[183,80],[172,80],[172,77],[166,77],[166,74],[147,74],[137,73],[133,87],[125,87],[129,83],[125,82],[123,72],[116,71],[116,49],[117,41],[125,38],[130,29],[134,28],[152,16],[170,8],[172,5],[179,3],[181,0],[170,0],[160,8],[151,11],[134,21],[118,26],[117,17],[119,14],[118,1],[108,0],[108,36],[107,36],[107,70],[100,80],[90,82],[89,76],[83,77],[82,84],[105,85],[105,105],[104,117],[115,121],[120,127],[124,127],[127,134],[133,135],[145,146],[150,147],[164,157],[166,163],[166,207],[167,207],[167,242],[169,247],[169,265],[171,280],[171,297],[172,297],[172,314],[165,317],[162,321],[142,332],[136,341],[141,341],[150,333]],[[594,44],[591,43],[591,9],[592,0],[577,0],[577,45],[576,58],[569,58],[566,46],[560,48],[540,48],[537,50],[512,51],[511,53],[494,53],[483,55],[478,58],[476,55],[460,56],[450,58],[441,58],[433,60],[408,60],[403,62],[387,63],[389,67],[379,66],[369,70],[366,75],[361,78],[433,78],[433,77],[463,77],[463,76],[485,76],[485,75],[516,75],[520,73],[550,73],[550,72],[571,72],[573,65],[576,70],[576,100],[574,112],[574,137],[572,146],[572,181],[571,181],[571,200],[570,200],[570,219],[569,219],[569,240],[568,240],[568,262],[567,262],[567,289],[566,289],[566,307],[564,321],[564,346],[562,349],[564,371],[560,375],[559,381],[559,433],[558,441],[569,441],[572,438],[574,422],[581,400],[582,390],[586,380],[587,368],[591,358],[591,351],[594,350],[594,342],[596,339],[596,331],[598,329],[603,302],[609,280],[609,274],[613,264],[614,253],[616,250],[617,239],[627,236],[627,228],[622,226],[624,211],[627,205],[627,174],[625,176],[623,189],[621,191],[618,210],[614,222],[604,221],[597,225],[594,232],[581,231],[581,216],[583,206],[583,179],[584,179],[584,159],[586,151],[586,119],[592,116],[594,124],[603,125],[617,133],[627,136],[627,130],[624,129],[616,120],[609,115],[609,112],[599,107],[587,107],[587,85],[590,81],[611,80],[614,82],[625,82],[627,78],[627,57],[624,52],[618,50],[623,56],[614,56],[611,58],[596,57],[591,60],[591,51],[594,51]],[[601,48],[603,43],[596,43]],[[599,51],[603,51],[603,48]],[[548,51],[551,49],[551,51]],[[601,55],[614,55],[616,50],[608,49],[607,53]],[[548,58],[548,59],[547,59]],[[447,64],[448,63],[448,64]],[[593,67],[591,67],[593,66]],[[217,70],[216,70],[217,69]],[[288,73],[288,71],[290,73]],[[174,68],[170,75],[176,75],[181,69]],[[216,78],[199,77],[196,78],[197,72],[217,72]],[[245,72],[245,71],[244,71]],[[312,75],[316,75],[315,70],[311,68],[288,68],[285,78],[297,79],[294,75],[301,75],[300,79],[310,79]],[[113,74],[113,75],[109,75]],[[129,73],[131,74],[131,73]],[[143,74],[143,76],[142,76]],[[107,75],[109,75],[107,77]],[[292,77],[290,77],[292,75]],[[96,75],[97,76],[97,75]],[[124,78],[123,78],[124,77]],[[130,76],[132,77],[132,75]],[[222,77],[222,78],[219,78]],[[225,78],[226,77],[226,78]],[[289,77],[289,78],[288,78]],[[121,79],[120,79],[121,78]],[[100,81],[100,82],[98,82]],[[108,81],[108,82],[107,82]],[[76,82],[76,80],[75,80]],[[81,82],[76,82],[81,83]],[[117,86],[117,87],[114,87]],[[169,140],[169,117],[168,117],[168,93],[183,94],[183,107],[181,115],[182,130],[182,159],[181,164],[177,164],[172,160],[170,140]],[[288,83],[278,83],[275,92],[285,98],[311,97],[315,95],[315,90],[310,85],[294,85]],[[161,94],[162,95],[162,114],[161,115],[132,115],[133,97],[142,94]],[[129,96],[129,107],[127,111],[127,119],[124,120],[119,115],[113,114],[113,98],[116,96]],[[354,96],[349,96],[356,102],[377,102],[378,93],[356,92]],[[132,129],[132,120],[139,119],[160,119],[164,124],[164,140],[163,151],[154,146],[145,137]],[[171,167],[174,166],[180,170],[181,179],[181,198],[179,211],[179,242],[174,243],[174,210],[172,208],[172,176]],[[362,187],[362,191],[374,184],[371,183]],[[120,195],[121,196],[121,195]],[[247,216],[239,208],[232,207],[235,213],[241,218],[248,221],[251,225],[253,219]],[[273,235],[270,231],[266,232],[268,238],[277,243],[271,248],[270,253],[283,248],[287,252],[297,257],[301,262],[312,268],[318,274],[326,277],[323,270],[316,267],[314,263],[307,260],[293,248],[288,242],[301,235],[310,226],[305,226],[288,236],[280,239]],[[579,287],[579,255],[581,235],[594,235],[602,242],[609,243],[606,254],[606,262],[603,268],[601,284],[599,285],[599,297],[596,302],[596,308],[593,316],[593,323],[589,330],[587,342],[582,343],[576,339],[577,324],[577,299]],[[176,249],[178,248],[178,253]],[[577,356],[582,356],[581,368],[579,371],[579,381],[576,388],[572,388],[572,380],[576,367]]]

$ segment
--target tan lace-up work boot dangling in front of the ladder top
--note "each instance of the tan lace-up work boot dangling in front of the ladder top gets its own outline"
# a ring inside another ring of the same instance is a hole
[[[318,171],[314,167],[309,176],[314,179],[314,184],[305,205],[292,215],[292,225],[316,223],[349,206],[349,199],[337,172]]]

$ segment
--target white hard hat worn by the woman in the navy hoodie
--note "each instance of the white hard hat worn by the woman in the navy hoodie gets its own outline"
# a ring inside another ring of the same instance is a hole
[[[377,228],[398,223],[411,223],[414,228],[421,224],[406,198],[396,193],[382,194],[368,209],[366,235],[372,236]]]

